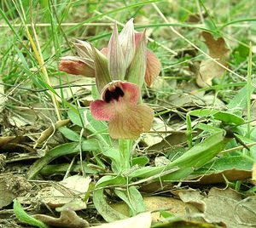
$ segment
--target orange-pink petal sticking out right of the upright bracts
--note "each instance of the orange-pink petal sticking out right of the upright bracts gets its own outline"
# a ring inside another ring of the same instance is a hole
[[[145,82],[148,87],[154,83],[156,77],[160,74],[160,60],[151,51],[147,51],[147,68]]]

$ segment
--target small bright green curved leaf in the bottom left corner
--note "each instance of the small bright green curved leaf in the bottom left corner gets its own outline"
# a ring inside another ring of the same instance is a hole
[[[17,219],[19,219],[21,222],[40,228],[49,228],[48,225],[45,225],[40,220],[33,218],[29,214],[26,214],[26,211],[21,207],[20,202],[18,202],[16,199],[14,200],[14,212]]]

